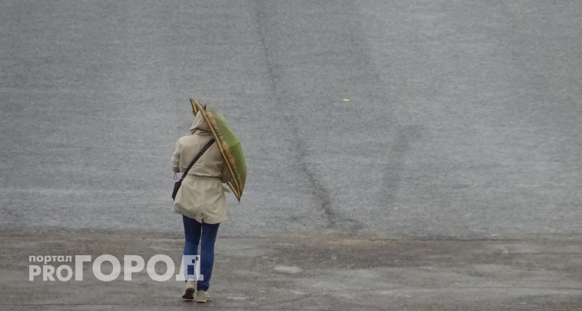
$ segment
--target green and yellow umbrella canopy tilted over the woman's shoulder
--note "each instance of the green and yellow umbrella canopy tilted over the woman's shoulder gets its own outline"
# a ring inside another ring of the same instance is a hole
[[[227,165],[232,179],[227,182],[232,193],[240,202],[240,196],[243,196],[245,181],[247,180],[247,163],[243,155],[243,147],[240,146],[240,140],[228,126],[224,117],[220,113],[206,107],[205,104],[197,100],[190,100],[192,113],[202,113],[204,120],[209,124],[212,135],[218,142],[218,149]]]

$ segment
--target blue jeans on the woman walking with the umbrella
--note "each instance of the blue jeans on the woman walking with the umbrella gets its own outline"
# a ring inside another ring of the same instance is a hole
[[[210,288],[210,277],[214,265],[214,242],[218,233],[220,223],[198,223],[196,220],[182,215],[184,222],[184,255],[197,255],[198,243],[200,245],[200,274],[204,275],[203,281],[197,282],[197,290],[208,290]]]

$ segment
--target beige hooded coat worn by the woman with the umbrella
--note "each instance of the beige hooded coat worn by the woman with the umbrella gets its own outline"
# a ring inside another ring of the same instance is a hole
[[[191,135],[179,138],[176,143],[172,158],[175,173],[186,171],[193,158],[213,138],[202,113],[196,115],[190,131]],[[188,171],[176,194],[174,211],[199,223],[222,223],[227,219],[222,182],[229,180],[230,174],[215,142]]]

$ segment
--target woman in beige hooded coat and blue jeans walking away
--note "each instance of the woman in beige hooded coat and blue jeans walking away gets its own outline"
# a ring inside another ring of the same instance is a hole
[[[224,164],[209,124],[197,113],[190,128],[191,135],[179,138],[172,158],[175,173],[186,171],[192,160],[210,147],[188,171],[174,201],[174,211],[182,214],[184,223],[184,255],[196,255],[200,244],[200,274],[204,280],[187,280],[183,299],[205,303],[210,300],[209,288],[214,264],[214,242],[218,226],[227,219],[226,200],[222,182],[231,176]]]

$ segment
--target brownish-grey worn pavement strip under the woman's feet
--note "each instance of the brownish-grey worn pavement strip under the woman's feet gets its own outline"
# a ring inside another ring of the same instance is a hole
[[[182,282],[145,272],[112,282],[26,281],[29,254],[117,258],[175,254],[182,240],[143,234],[18,235],[0,239],[3,310],[582,310],[582,236],[519,240],[420,241],[347,234],[222,238],[212,275],[213,301],[180,299]],[[56,251],[55,251],[56,250]],[[179,262],[177,254],[172,256]],[[74,266],[74,265],[73,265]],[[110,267],[110,266],[109,266]],[[161,265],[158,273],[164,273]],[[109,273],[107,265],[102,267]],[[31,286],[34,284],[34,286]]]

